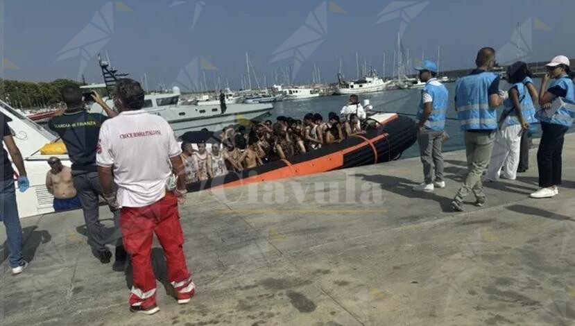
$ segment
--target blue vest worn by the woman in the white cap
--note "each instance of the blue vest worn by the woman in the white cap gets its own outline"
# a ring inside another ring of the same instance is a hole
[[[575,89],[573,87],[573,80],[571,80],[569,76],[563,76],[557,80],[554,80],[549,88],[555,86],[559,86],[565,89],[567,95],[565,97],[558,97],[554,100],[559,102],[552,103],[552,105],[560,105],[560,107],[552,117],[547,116],[546,110],[539,110],[537,112],[537,117],[541,122],[571,127],[573,124],[573,119],[575,119]]]

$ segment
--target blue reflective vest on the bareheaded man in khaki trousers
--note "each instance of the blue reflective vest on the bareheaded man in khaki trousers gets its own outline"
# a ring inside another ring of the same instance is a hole
[[[482,72],[459,78],[455,85],[455,108],[461,130],[497,129],[497,110],[489,108],[488,89],[497,74]]]

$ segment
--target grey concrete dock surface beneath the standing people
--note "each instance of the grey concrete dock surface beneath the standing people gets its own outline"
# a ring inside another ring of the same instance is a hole
[[[153,316],[128,311],[130,269],[92,256],[81,212],[24,218],[30,266],[12,276],[3,257],[0,324],[575,325],[575,135],[554,198],[528,197],[535,153],[527,173],[486,184],[486,206],[469,197],[462,213],[449,203],[463,151],[445,154],[447,188],[433,194],[411,190],[418,158],[189,194],[180,214],[196,296],[166,295],[155,243]]]

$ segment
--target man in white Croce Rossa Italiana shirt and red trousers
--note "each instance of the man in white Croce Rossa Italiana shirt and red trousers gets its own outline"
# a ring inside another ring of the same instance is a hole
[[[98,176],[105,200],[121,207],[123,243],[131,255],[134,280],[130,311],[151,315],[160,310],[151,262],[154,233],[164,249],[168,281],[178,304],[189,302],[196,289],[186,266],[178,214],[178,203],[185,203],[187,193],[182,151],[169,124],[141,110],[144,91],[135,80],[119,80],[114,105],[120,114],[105,121],[100,130]],[[178,175],[178,185],[169,191],[166,185],[172,173]],[[117,194],[112,181],[118,186]]]

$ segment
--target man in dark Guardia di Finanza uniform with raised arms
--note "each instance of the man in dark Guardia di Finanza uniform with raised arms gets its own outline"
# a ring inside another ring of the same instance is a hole
[[[82,89],[78,85],[69,84],[62,87],[62,98],[67,110],[62,115],[50,119],[48,127],[58,133],[66,144],[72,162],[74,187],[82,203],[88,244],[101,263],[107,264],[110,262],[112,252],[106,246],[104,226],[99,221],[98,196],[103,196],[103,193],[98,182],[96,148],[102,123],[117,116],[117,112],[111,110],[96,92],[92,97],[105,110],[108,117],[87,112],[84,108]],[[120,232],[119,207],[110,206],[110,211],[114,214],[114,234],[117,234]],[[121,244],[121,236],[117,238],[116,263],[121,264],[126,261],[126,252]]]

